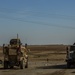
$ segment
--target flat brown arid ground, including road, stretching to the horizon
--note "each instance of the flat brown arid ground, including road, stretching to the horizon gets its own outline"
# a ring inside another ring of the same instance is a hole
[[[66,68],[65,45],[30,45],[29,62],[27,69],[3,69],[0,67],[0,75],[75,75],[75,67]],[[0,59],[2,59],[0,51]]]

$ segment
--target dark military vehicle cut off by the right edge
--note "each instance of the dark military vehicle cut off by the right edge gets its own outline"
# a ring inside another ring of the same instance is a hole
[[[75,45],[67,47],[67,56],[66,56],[67,68],[70,68],[72,65],[75,65]]]

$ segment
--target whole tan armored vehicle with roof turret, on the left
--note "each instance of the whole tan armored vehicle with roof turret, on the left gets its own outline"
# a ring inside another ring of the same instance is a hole
[[[14,66],[20,69],[28,68],[27,44],[25,47],[21,45],[20,39],[11,39],[9,45],[3,44],[4,68],[13,68]]]

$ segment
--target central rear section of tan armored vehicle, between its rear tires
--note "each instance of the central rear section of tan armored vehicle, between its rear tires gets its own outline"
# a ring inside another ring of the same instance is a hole
[[[19,54],[17,48],[10,48],[8,54],[8,63],[9,66],[18,66],[19,65]]]

